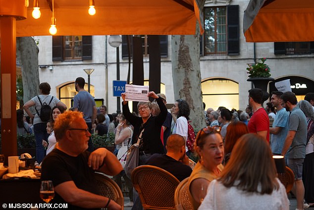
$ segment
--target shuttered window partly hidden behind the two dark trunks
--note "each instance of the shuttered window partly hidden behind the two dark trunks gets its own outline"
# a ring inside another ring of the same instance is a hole
[[[143,56],[149,56],[149,45],[148,45],[148,35],[139,35],[142,38],[142,47],[143,47]],[[168,56],[168,36],[160,35],[159,36],[159,44],[160,44],[160,56],[167,57]],[[132,49],[132,39],[131,39],[131,49]],[[132,50],[131,50],[132,57]],[[122,35],[122,58],[128,58],[128,44],[127,44],[127,36]]]

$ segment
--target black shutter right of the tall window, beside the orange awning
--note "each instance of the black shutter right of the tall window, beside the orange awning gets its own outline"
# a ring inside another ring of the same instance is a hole
[[[227,6],[228,54],[239,54],[239,5]]]

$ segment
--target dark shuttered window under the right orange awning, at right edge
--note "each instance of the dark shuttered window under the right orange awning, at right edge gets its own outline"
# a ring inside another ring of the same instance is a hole
[[[275,42],[275,54],[311,54],[314,52],[314,42]]]

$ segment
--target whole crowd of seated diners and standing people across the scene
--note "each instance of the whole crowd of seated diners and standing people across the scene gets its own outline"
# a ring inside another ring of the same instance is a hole
[[[142,210],[131,179],[123,170],[124,151],[138,144],[138,165],[163,168],[180,181],[189,177],[188,193],[194,209],[288,209],[288,197],[277,179],[272,155],[284,156],[294,173],[292,192],[297,210],[314,206],[314,93],[297,102],[292,92],[276,91],[263,108],[262,90],[253,88],[245,111],[208,108],[204,111],[207,127],[197,133],[191,149],[187,144],[191,138],[190,107],[185,100],[176,100],[168,112],[166,96],[149,92],[153,102],[139,102],[137,113],[132,113],[126,93],[122,93],[122,113],[107,114],[105,105],[96,107],[84,84],[83,78],[76,79],[79,94],[71,111],[65,111],[66,106],[50,96],[48,83],[40,85],[41,95],[24,105],[34,119],[37,161],[44,159],[42,179],[52,180],[55,186],[54,202],[121,209],[114,201],[98,196],[93,179],[96,170],[112,175],[120,188],[123,177],[130,198],[125,207]],[[40,110],[42,103],[52,107],[48,122],[29,109],[35,106]],[[23,111],[17,111],[17,118],[18,132],[32,132],[23,121]],[[94,151],[91,133],[109,132],[114,134],[113,154],[104,148]],[[193,153],[198,161],[192,170],[189,156]],[[55,175],[55,171],[60,173]]]

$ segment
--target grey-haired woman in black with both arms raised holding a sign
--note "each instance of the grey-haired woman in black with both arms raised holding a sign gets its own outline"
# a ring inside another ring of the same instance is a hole
[[[155,153],[164,153],[163,145],[160,139],[160,130],[162,123],[167,116],[167,108],[163,104],[161,98],[157,96],[154,91],[148,92],[148,97],[156,99],[156,102],[160,108],[160,114],[158,116],[152,115],[152,103],[139,102],[137,110],[140,117],[133,115],[130,112],[128,102],[125,101],[126,93],[121,94],[122,111],[125,118],[133,125],[134,133],[132,137],[132,144],[139,143],[139,165],[143,165],[146,160]]]

